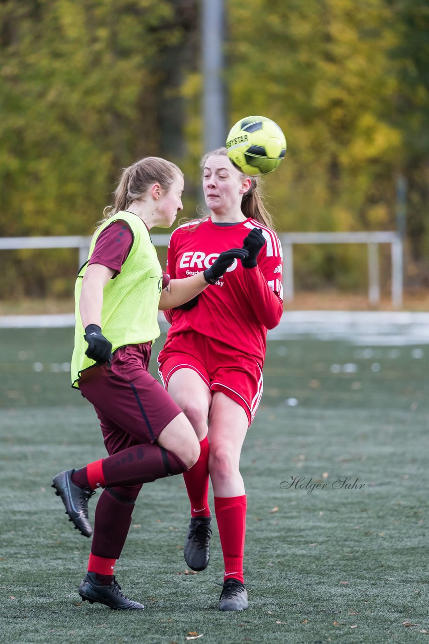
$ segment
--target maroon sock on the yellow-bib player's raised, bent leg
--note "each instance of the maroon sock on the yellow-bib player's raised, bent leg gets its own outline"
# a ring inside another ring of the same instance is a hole
[[[149,483],[187,470],[172,451],[146,443],[133,445],[107,457],[103,460],[102,468],[106,488]]]

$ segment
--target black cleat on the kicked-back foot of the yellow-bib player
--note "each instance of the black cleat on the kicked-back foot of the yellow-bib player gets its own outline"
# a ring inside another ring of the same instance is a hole
[[[55,489],[57,497],[62,498],[69,521],[73,521],[75,528],[80,530],[82,535],[91,536],[93,529],[88,521],[88,501],[95,492],[89,488],[78,488],[71,480],[74,471],[68,469],[57,474],[52,479],[51,488]]]

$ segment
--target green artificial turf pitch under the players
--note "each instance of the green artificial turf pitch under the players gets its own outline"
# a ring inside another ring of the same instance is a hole
[[[134,511],[116,573],[145,611],[128,613],[80,601],[90,541],[50,488],[60,469],[104,455],[95,413],[61,370],[71,339],[0,332],[2,641],[169,644],[194,631],[215,644],[426,641],[428,348],[419,358],[415,347],[369,355],[347,343],[270,342],[242,453],[250,609],[217,609],[216,529],[208,569],[185,574],[188,504],[176,477],[145,486]],[[331,371],[347,364],[356,372]],[[334,489],[340,476],[364,487]],[[280,487],[291,477],[302,478],[297,488]],[[310,479],[325,488],[299,489]]]

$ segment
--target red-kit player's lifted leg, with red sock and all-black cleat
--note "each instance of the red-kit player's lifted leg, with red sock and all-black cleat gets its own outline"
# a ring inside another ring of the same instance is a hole
[[[210,559],[212,516],[208,505],[208,439],[207,417],[212,395],[206,383],[193,369],[176,371],[169,380],[168,392],[192,424],[200,445],[196,464],[183,473],[190,500],[191,519],[183,556],[187,565],[202,571]]]

